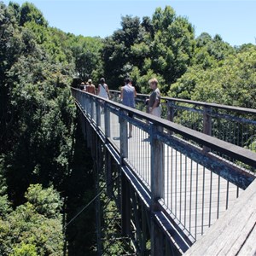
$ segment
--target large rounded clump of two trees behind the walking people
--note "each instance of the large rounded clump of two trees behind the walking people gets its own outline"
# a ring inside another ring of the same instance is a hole
[[[148,80],[156,75],[165,94],[186,72],[194,53],[194,28],[175,15],[171,7],[155,10],[152,20],[122,17],[121,29],[106,38],[102,49],[104,73],[111,88],[131,76],[138,91],[148,91]],[[141,77],[142,79],[139,79]]]

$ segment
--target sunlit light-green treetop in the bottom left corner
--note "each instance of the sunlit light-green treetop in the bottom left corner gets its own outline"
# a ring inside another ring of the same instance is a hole
[[[49,192],[55,195],[55,200],[42,198]],[[61,206],[60,195],[52,188],[44,190],[36,184],[28,189],[27,197],[32,203],[27,201],[0,217],[0,254],[62,255],[61,213],[55,207],[55,203]]]

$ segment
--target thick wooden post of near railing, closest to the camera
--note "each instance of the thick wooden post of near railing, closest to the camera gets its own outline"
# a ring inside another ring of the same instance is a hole
[[[154,124],[150,125],[151,143],[151,255],[163,255],[163,242],[159,226],[155,223],[154,212],[159,211],[158,201],[164,194],[164,146],[157,137],[157,132],[163,128]]]

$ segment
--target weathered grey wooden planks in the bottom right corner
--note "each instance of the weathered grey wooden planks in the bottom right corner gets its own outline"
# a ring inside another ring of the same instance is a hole
[[[256,181],[184,255],[256,255]]]

